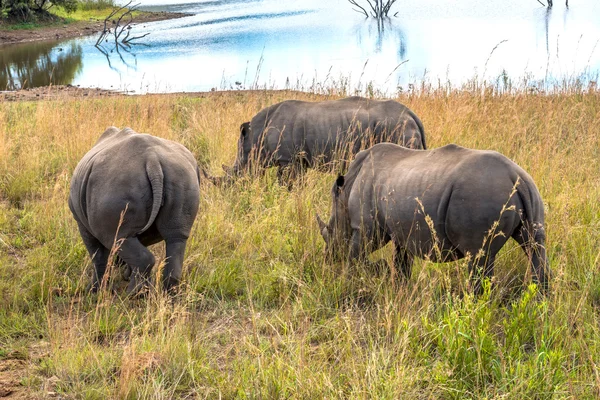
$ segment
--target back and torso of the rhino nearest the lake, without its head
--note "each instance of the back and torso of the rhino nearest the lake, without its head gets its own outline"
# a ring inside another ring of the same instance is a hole
[[[292,162],[300,152],[309,162],[316,158],[329,162],[336,151],[356,153],[378,142],[403,143],[403,132],[410,131],[411,137],[419,132],[412,115],[393,100],[288,100],[258,113],[251,130],[263,155],[279,163]]]

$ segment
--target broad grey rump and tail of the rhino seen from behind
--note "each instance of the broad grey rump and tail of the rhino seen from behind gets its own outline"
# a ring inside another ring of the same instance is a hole
[[[138,235],[161,212],[180,222],[181,234],[189,233],[199,204],[198,171],[184,146],[111,127],[76,167],[69,205],[75,219],[107,248],[117,228],[119,237]]]

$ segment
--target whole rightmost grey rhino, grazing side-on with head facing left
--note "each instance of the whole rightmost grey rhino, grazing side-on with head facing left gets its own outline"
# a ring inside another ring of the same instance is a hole
[[[446,262],[470,254],[473,289],[480,293],[481,275],[493,275],[496,254],[512,237],[531,260],[534,279],[548,288],[540,193],[527,172],[497,152],[378,144],[356,156],[332,197],[329,224],[318,215],[317,221],[327,251],[348,251],[351,263],[392,241],[395,268],[408,279],[415,256]]]

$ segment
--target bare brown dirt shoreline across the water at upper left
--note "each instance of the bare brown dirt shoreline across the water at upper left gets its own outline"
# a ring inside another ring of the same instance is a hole
[[[188,14],[167,12],[141,12],[133,19],[133,25],[145,22],[163,21],[166,19],[181,18]],[[100,32],[104,27],[104,21],[91,20],[64,25],[53,25],[36,29],[6,30],[0,25],[0,48],[4,45],[34,42],[38,40],[68,39],[78,36],[92,35]]]

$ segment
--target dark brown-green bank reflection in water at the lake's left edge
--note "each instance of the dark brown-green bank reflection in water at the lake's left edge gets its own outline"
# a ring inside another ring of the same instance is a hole
[[[0,89],[66,85],[81,72],[82,48],[77,42],[38,42],[0,51]]]

